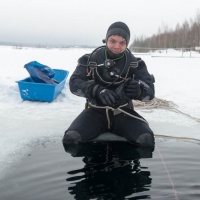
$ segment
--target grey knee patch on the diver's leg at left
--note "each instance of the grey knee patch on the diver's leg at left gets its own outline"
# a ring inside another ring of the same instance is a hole
[[[63,137],[65,144],[79,144],[81,142],[81,135],[77,131],[67,131]]]

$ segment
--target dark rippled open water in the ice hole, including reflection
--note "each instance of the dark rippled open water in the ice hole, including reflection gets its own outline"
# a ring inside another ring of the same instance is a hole
[[[66,152],[66,151],[67,152]],[[1,181],[2,200],[199,200],[200,143],[156,138],[155,148],[35,145]]]

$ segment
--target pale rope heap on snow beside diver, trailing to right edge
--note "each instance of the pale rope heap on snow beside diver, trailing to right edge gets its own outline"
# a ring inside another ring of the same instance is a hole
[[[170,111],[182,114],[186,117],[189,117],[189,118],[195,120],[196,122],[200,123],[199,118],[193,117],[187,113],[184,113],[184,112],[178,110],[177,109],[178,106],[175,103],[173,103],[172,101],[167,101],[167,100],[159,99],[159,98],[154,98],[148,102],[133,100],[133,105],[136,109],[141,110],[143,112],[152,112],[152,109],[156,109],[156,108],[170,110]]]

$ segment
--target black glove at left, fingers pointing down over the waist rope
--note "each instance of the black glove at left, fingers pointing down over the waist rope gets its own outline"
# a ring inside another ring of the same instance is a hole
[[[117,103],[117,95],[112,90],[102,89],[97,96],[104,106],[114,106]]]

